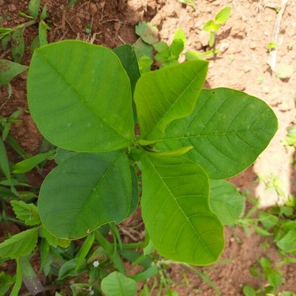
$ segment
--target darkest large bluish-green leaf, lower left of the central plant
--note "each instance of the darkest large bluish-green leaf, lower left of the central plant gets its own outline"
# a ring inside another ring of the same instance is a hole
[[[119,223],[131,206],[131,184],[125,152],[78,153],[45,178],[38,198],[41,221],[54,236],[69,239]]]

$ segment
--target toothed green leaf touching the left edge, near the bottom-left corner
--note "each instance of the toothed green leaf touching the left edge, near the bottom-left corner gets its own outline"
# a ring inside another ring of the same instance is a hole
[[[0,244],[0,258],[15,259],[35,249],[38,227],[11,236]]]

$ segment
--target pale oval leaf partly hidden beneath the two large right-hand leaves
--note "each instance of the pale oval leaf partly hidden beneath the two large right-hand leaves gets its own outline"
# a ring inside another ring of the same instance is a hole
[[[235,186],[224,180],[210,181],[210,208],[223,225],[232,224],[242,214],[244,198]]]

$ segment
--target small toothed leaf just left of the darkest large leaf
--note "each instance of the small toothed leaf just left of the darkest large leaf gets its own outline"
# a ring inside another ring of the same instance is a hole
[[[10,204],[16,218],[24,221],[26,225],[33,226],[41,223],[35,204],[27,204],[22,200],[11,200]]]

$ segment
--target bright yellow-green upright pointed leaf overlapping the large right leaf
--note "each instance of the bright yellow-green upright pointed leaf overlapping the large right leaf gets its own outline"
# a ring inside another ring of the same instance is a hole
[[[160,139],[169,123],[192,112],[207,68],[206,61],[190,61],[145,73],[138,80],[135,102],[143,139]]]

